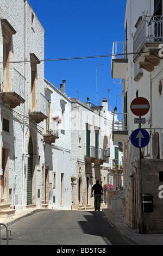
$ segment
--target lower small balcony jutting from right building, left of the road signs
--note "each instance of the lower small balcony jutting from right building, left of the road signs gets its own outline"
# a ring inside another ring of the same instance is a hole
[[[128,127],[127,127],[127,113],[114,112],[112,120],[112,140],[114,142],[127,142]]]

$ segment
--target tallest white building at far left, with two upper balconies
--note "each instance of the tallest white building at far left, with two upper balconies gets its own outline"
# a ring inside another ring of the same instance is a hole
[[[0,203],[41,208],[44,29],[27,1],[2,0],[0,8]]]

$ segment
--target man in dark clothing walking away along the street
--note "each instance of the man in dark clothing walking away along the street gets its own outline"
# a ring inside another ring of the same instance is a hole
[[[99,180],[96,180],[96,184],[93,185],[92,187],[92,194],[93,194],[93,190],[94,190],[94,197],[95,197],[95,211],[99,211],[100,210],[100,206],[101,206],[101,195],[103,193],[103,187],[102,185],[99,184]]]

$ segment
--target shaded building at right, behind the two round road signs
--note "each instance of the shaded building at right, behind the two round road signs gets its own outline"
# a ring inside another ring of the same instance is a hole
[[[119,131],[113,132],[113,140],[123,142],[126,223],[141,233],[163,230],[163,202],[158,196],[163,163],[162,15],[162,0],[127,0],[126,42],[114,43],[113,53],[122,55],[112,58],[111,68],[112,78],[123,80],[123,125]],[[140,97],[148,100],[150,108],[145,115],[138,113],[137,116],[130,106],[135,98]],[[134,118],[139,118],[139,115],[145,118],[141,128],[149,134],[147,145],[143,145],[145,136],[131,141],[131,134],[139,128]],[[138,143],[141,149],[134,143]]]

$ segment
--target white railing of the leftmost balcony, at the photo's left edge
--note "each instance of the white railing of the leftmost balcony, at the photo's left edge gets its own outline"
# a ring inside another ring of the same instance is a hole
[[[0,69],[0,92],[15,92],[24,99],[26,78],[16,69]]]

